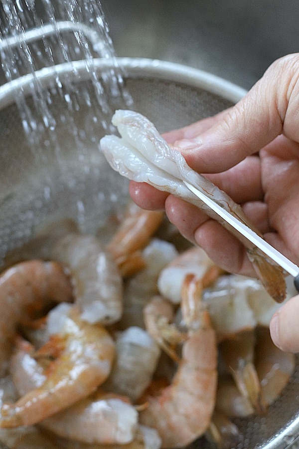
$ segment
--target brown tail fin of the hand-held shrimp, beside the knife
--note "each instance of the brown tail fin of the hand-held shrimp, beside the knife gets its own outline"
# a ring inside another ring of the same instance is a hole
[[[277,264],[271,263],[259,250],[247,250],[248,257],[267,292],[276,302],[286,298],[285,272]]]

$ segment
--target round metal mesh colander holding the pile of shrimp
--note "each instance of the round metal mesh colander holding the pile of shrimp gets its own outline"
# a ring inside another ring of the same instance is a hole
[[[120,58],[125,85],[134,110],[149,118],[160,132],[179,128],[213,115],[238,101],[242,89],[213,75],[177,64],[148,59]],[[84,61],[77,61],[76,86],[90,83]],[[94,60],[96,70],[106,70],[107,61]],[[69,65],[49,67],[34,76],[49,88],[57,72],[60,80],[72,78]],[[79,77],[78,77],[79,73]],[[128,181],[115,173],[99,151],[99,140],[107,134],[101,123],[93,123],[87,105],[72,111],[73,127],[65,125],[68,105],[61,91],[52,89],[51,111],[56,122],[55,142],[48,129],[41,129],[41,150],[27,139],[15,104],[22,89],[27,104],[32,99],[32,76],[0,88],[0,258],[32,237],[40,224],[63,217],[73,218],[82,231],[94,232],[107,217],[123,207]],[[116,104],[117,108],[118,105]],[[89,133],[90,131],[90,133]],[[59,148],[59,151],[57,151]],[[286,449],[295,447],[299,434],[299,364],[282,397],[264,417],[237,420],[244,441],[236,449]],[[210,448],[205,439],[191,448]]]

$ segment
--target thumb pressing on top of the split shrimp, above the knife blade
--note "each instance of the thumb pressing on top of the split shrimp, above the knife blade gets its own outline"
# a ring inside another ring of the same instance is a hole
[[[299,137],[294,135],[294,132],[298,134],[299,123],[298,78],[299,53],[275,61],[247,95],[214,126],[194,139],[176,142],[187,164],[198,173],[222,172],[256,153],[283,132],[296,140]],[[296,111],[295,117],[287,114],[288,108]],[[293,127],[296,117],[297,126]]]

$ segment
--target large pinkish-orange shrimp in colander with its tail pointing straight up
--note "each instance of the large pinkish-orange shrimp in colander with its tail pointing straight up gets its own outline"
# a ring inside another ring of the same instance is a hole
[[[193,276],[188,278],[182,292],[188,337],[182,345],[176,374],[171,385],[159,396],[149,397],[149,406],[140,412],[141,423],[158,431],[162,448],[183,448],[202,435],[215,405],[216,335],[208,312],[201,308],[193,281]]]

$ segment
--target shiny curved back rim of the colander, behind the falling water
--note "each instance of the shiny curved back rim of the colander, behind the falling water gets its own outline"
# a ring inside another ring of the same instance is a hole
[[[124,78],[146,76],[148,78],[167,79],[168,81],[187,84],[190,87],[201,88],[219,95],[226,100],[237,103],[247,91],[236,84],[204,70],[189,67],[175,62],[149,58],[119,57],[115,60],[93,58],[96,71],[119,66]],[[54,76],[59,76],[61,82],[67,77],[69,82],[84,81],[90,77],[90,61],[66,62],[55,66],[44,67],[34,73],[23,75],[0,86],[0,109],[14,103],[17,92],[28,95],[35,82],[40,86],[49,87]]]

